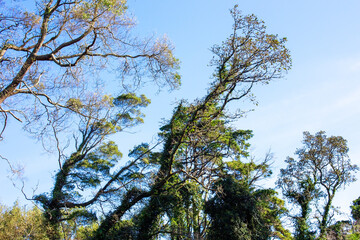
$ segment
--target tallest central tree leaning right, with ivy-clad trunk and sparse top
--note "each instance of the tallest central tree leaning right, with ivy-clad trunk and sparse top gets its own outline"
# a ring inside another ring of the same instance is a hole
[[[129,205],[149,197],[138,238],[153,239],[158,234],[158,220],[167,204],[171,204],[163,201],[164,193],[181,187],[189,179],[206,188],[216,179],[225,159],[244,154],[243,142],[248,134],[229,127],[229,121],[238,116],[226,112],[227,106],[249,97],[255,84],[281,77],[290,67],[290,58],[284,46],[286,40],[267,34],[262,21],[253,15],[242,16],[237,8],[231,13],[232,35],[212,49],[216,71],[208,94],[193,104],[182,102],[176,108],[161,133],[164,144],[162,151],[156,153],[159,168],[155,181],[147,192],[133,195],[112,211],[100,225],[98,234],[108,232]]]

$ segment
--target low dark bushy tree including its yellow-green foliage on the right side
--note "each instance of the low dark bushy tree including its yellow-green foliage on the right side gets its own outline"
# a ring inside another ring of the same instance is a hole
[[[254,190],[231,176],[214,187],[217,193],[205,204],[211,219],[206,239],[291,239],[281,226],[285,208],[275,191]]]

